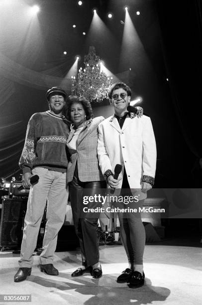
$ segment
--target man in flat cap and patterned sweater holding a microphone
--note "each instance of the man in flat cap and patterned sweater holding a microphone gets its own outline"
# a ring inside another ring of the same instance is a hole
[[[35,113],[29,120],[24,148],[19,160],[23,171],[23,187],[30,187],[24,220],[19,270],[14,282],[21,282],[31,274],[32,254],[36,248],[40,223],[47,204],[47,223],[40,255],[40,269],[49,275],[58,275],[53,266],[57,236],[64,223],[68,190],[66,186],[66,140],[69,124],[62,115],[67,93],[53,87],[46,93],[49,110]],[[39,180],[31,185],[30,178]]]

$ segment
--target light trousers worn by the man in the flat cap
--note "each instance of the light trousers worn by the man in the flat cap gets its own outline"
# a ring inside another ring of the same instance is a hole
[[[40,263],[53,263],[57,236],[64,223],[68,202],[66,172],[62,173],[43,167],[35,167],[32,173],[33,175],[38,175],[39,180],[30,187],[19,260],[19,266],[27,268],[31,268],[33,263],[32,254],[36,248],[38,232],[47,200],[47,223]]]

